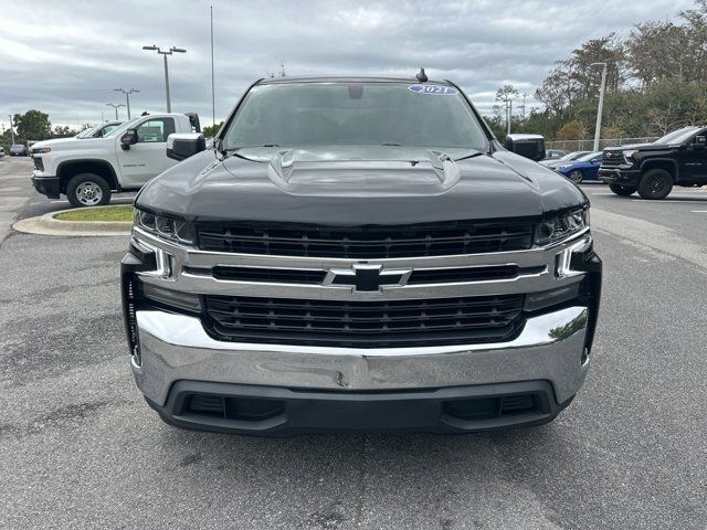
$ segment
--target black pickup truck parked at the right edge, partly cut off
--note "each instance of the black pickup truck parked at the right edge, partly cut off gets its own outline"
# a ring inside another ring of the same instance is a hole
[[[653,144],[604,149],[599,178],[618,195],[665,199],[673,186],[707,184],[707,127],[684,127]]]

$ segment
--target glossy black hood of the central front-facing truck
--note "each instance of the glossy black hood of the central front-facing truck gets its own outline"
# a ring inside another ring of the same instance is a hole
[[[222,160],[209,150],[151,180],[136,204],[190,220],[360,225],[540,218],[588,203],[563,177],[508,151],[457,160],[421,148],[366,153],[281,150]]]

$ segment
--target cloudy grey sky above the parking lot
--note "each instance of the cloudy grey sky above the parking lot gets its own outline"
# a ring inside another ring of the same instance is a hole
[[[163,110],[161,56],[143,50],[156,44],[188,50],[170,57],[172,110],[197,110],[210,124],[211,4],[219,119],[281,61],[287,75],[411,75],[423,65],[490,113],[499,86],[531,95],[553,61],[583,41],[674,19],[693,2],[0,0],[0,123],[30,108],[55,125],[98,123],[114,117],[106,103],[125,102],[117,87],[140,91],[134,115]]]

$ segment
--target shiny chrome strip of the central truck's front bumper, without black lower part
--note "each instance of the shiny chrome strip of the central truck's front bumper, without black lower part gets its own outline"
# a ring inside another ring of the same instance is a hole
[[[361,350],[223,342],[198,318],[144,310],[137,311],[141,364],[133,371],[158,405],[180,380],[338,391],[547,380],[562,403],[587,375],[587,320],[588,308],[569,307],[528,319],[508,342]]]

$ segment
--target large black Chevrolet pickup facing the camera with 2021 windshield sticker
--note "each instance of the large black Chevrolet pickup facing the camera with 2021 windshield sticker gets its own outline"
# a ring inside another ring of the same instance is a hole
[[[135,199],[130,364],[167,423],[284,436],[551,421],[580,390],[589,200],[446,81],[253,84]],[[460,147],[464,146],[464,147]]]

